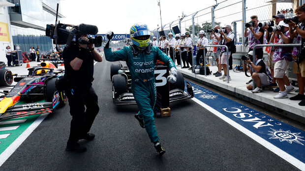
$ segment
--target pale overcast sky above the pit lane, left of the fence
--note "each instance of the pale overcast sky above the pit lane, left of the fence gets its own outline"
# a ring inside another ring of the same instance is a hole
[[[218,3],[223,0],[218,0]],[[132,24],[142,22],[149,28],[161,26],[157,0],[61,0],[61,23],[93,24],[98,34],[112,30],[115,34],[129,33]],[[162,24],[178,20],[215,4],[215,0],[160,0]],[[168,26],[168,25],[167,25]]]

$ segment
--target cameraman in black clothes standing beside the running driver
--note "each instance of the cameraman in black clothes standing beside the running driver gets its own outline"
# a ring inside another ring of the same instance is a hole
[[[69,99],[72,116],[70,136],[67,151],[84,152],[87,147],[78,140],[93,140],[95,135],[89,133],[91,125],[99,111],[97,96],[93,90],[93,63],[102,61],[102,56],[94,49],[93,44],[87,44],[87,35],[76,37],[69,48],[64,48],[64,78],[67,81],[66,95]],[[85,111],[86,106],[86,111]]]

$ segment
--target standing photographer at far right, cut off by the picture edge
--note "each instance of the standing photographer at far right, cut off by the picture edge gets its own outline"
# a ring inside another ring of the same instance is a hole
[[[299,6],[295,13],[297,14],[299,24],[297,25],[293,21],[291,21],[289,24],[289,33],[290,38],[293,39],[293,43],[302,43],[302,50],[304,51],[304,43],[305,43],[305,4],[302,6]],[[292,29],[294,28],[294,29]],[[298,75],[298,87],[299,87],[299,94],[291,97],[291,100],[301,100],[299,102],[300,106],[305,106],[305,95],[304,95],[304,87],[305,87],[305,60],[304,60],[304,53],[300,53],[299,47],[294,47],[292,51],[292,55],[294,58],[298,58],[296,56],[299,56],[299,60],[301,58],[301,62],[299,65],[294,62],[293,64],[293,72],[297,73]]]

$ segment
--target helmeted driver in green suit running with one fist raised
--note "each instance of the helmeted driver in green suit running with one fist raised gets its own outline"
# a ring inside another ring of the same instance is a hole
[[[151,32],[146,24],[137,23],[130,28],[130,38],[133,45],[112,52],[109,41],[113,32],[106,33],[108,42],[104,48],[107,61],[125,60],[131,74],[131,91],[139,107],[135,118],[145,127],[157,153],[162,156],[165,150],[159,143],[159,137],[154,125],[153,108],[156,100],[154,67],[157,60],[164,62],[170,68],[167,80],[171,83],[177,80],[177,70],[174,62],[164,52],[150,43]]]

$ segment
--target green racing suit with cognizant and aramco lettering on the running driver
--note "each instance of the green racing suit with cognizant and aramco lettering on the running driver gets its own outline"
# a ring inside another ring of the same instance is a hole
[[[131,74],[131,91],[137,102],[139,113],[143,118],[145,129],[152,142],[159,140],[157,130],[154,125],[153,108],[156,101],[156,87],[154,79],[154,67],[157,60],[160,60],[168,66],[169,69],[175,67],[173,60],[157,47],[150,47],[150,53],[147,50],[139,50],[134,55],[134,49],[131,46],[112,52],[110,48],[104,48],[107,61],[126,61]]]

